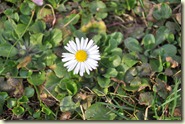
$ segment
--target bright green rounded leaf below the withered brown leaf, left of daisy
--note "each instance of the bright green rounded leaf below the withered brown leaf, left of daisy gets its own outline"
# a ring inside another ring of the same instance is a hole
[[[28,82],[32,85],[38,86],[44,83],[46,79],[45,72],[33,73],[29,78]]]

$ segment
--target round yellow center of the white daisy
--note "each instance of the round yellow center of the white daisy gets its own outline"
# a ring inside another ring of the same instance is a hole
[[[76,52],[75,57],[78,62],[84,62],[87,59],[88,55],[86,51],[79,50]]]

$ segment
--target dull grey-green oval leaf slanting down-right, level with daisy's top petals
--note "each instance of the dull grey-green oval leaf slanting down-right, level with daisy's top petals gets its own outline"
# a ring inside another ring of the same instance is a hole
[[[142,52],[142,48],[139,42],[135,38],[129,37],[125,39],[124,44],[125,44],[125,47],[130,51]]]

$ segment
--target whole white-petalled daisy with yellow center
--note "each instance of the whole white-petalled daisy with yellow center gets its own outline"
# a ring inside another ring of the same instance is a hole
[[[90,74],[90,71],[97,68],[100,53],[93,40],[75,38],[75,42],[69,41],[64,48],[69,53],[62,54],[62,62],[65,62],[64,67],[67,67],[68,71],[74,70],[74,74],[83,76],[85,72]]]

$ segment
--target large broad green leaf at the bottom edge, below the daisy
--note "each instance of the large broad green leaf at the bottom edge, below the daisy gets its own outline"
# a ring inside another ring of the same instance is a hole
[[[99,102],[91,105],[85,112],[87,120],[114,120],[115,113]]]

